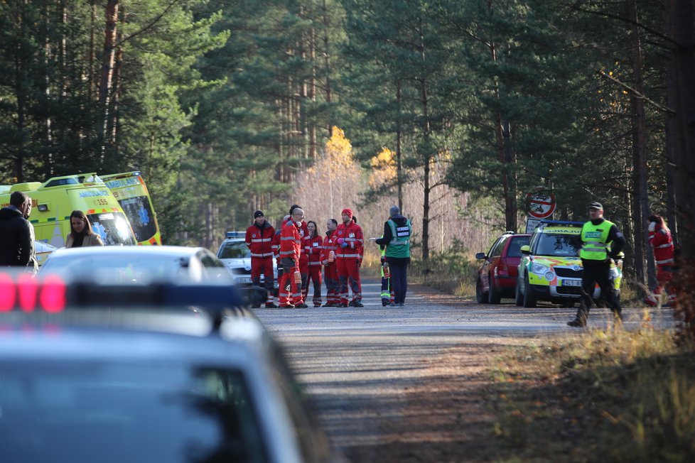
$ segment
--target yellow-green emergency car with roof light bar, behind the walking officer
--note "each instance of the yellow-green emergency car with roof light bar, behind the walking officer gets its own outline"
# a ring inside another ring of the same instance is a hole
[[[536,307],[548,300],[571,307],[581,298],[581,227],[584,222],[542,220],[528,246],[522,246],[515,303]],[[623,279],[622,263],[613,263],[611,275],[616,290]],[[600,297],[598,285],[593,298]]]

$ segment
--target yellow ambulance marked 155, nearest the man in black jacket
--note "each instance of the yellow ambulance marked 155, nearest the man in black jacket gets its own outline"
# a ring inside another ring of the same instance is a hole
[[[53,177],[44,183],[2,185],[1,207],[9,205],[10,195],[15,191],[25,192],[31,197],[29,221],[34,226],[36,241],[56,248],[65,247],[65,239],[70,233],[70,214],[80,209],[87,214],[92,231],[99,234],[107,246],[137,244],[123,209],[96,173]]]

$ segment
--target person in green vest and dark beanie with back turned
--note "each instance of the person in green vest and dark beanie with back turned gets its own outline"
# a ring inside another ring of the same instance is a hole
[[[376,243],[386,246],[386,263],[391,274],[394,290],[394,305],[403,307],[408,292],[408,264],[410,263],[410,236],[413,233],[410,221],[401,215],[398,206],[389,209],[389,219],[384,223],[384,234]]]

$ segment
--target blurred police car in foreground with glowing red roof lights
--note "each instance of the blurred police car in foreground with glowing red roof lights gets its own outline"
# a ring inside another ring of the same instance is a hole
[[[337,461],[245,305],[230,285],[0,273],[1,461]]]

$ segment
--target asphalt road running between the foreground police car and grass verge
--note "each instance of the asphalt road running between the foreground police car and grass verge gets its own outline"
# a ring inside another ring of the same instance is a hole
[[[377,280],[362,292],[364,308],[256,310],[284,344],[333,445],[353,462],[488,461],[480,440],[491,359],[509,345],[577,330],[566,326],[575,310],[554,305],[479,305],[414,288],[406,307],[382,307]],[[645,315],[623,313],[626,329]],[[670,311],[650,316],[671,323]],[[610,320],[595,308],[589,327]]]

